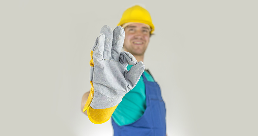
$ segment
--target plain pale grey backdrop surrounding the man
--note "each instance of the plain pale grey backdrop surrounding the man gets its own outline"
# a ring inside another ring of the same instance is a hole
[[[113,135],[80,102],[100,28],[136,4],[156,28],[144,64],[168,136],[258,135],[256,0],[1,1],[1,135]]]

